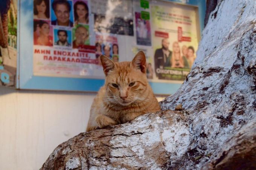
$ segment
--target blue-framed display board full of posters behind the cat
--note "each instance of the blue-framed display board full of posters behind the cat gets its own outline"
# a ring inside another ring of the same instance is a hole
[[[97,92],[99,56],[131,61],[144,51],[155,94],[169,95],[195,60],[205,12],[200,0],[20,1],[18,89]]]

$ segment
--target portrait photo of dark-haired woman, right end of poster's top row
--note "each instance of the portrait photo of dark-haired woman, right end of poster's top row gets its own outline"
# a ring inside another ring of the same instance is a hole
[[[84,0],[74,0],[74,18],[75,25],[89,24],[88,2]]]

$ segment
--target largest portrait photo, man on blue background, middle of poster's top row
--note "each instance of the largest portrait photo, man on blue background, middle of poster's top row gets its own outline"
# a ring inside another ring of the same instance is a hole
[[[53,26],[73,27],[73,2],[51,0],[51,24]]]

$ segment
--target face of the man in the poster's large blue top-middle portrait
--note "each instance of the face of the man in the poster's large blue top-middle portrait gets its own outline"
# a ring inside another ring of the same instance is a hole
[[[69,24],[69,8],[64,4],[57,4],[55,15],[59,25]]]

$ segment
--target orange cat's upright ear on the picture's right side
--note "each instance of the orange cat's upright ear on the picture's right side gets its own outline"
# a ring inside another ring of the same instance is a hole
[[[135,68],[140,69],[141,72],[146,73],[146,57],[143,51],[139,51],[134,57],[131,65]]]

